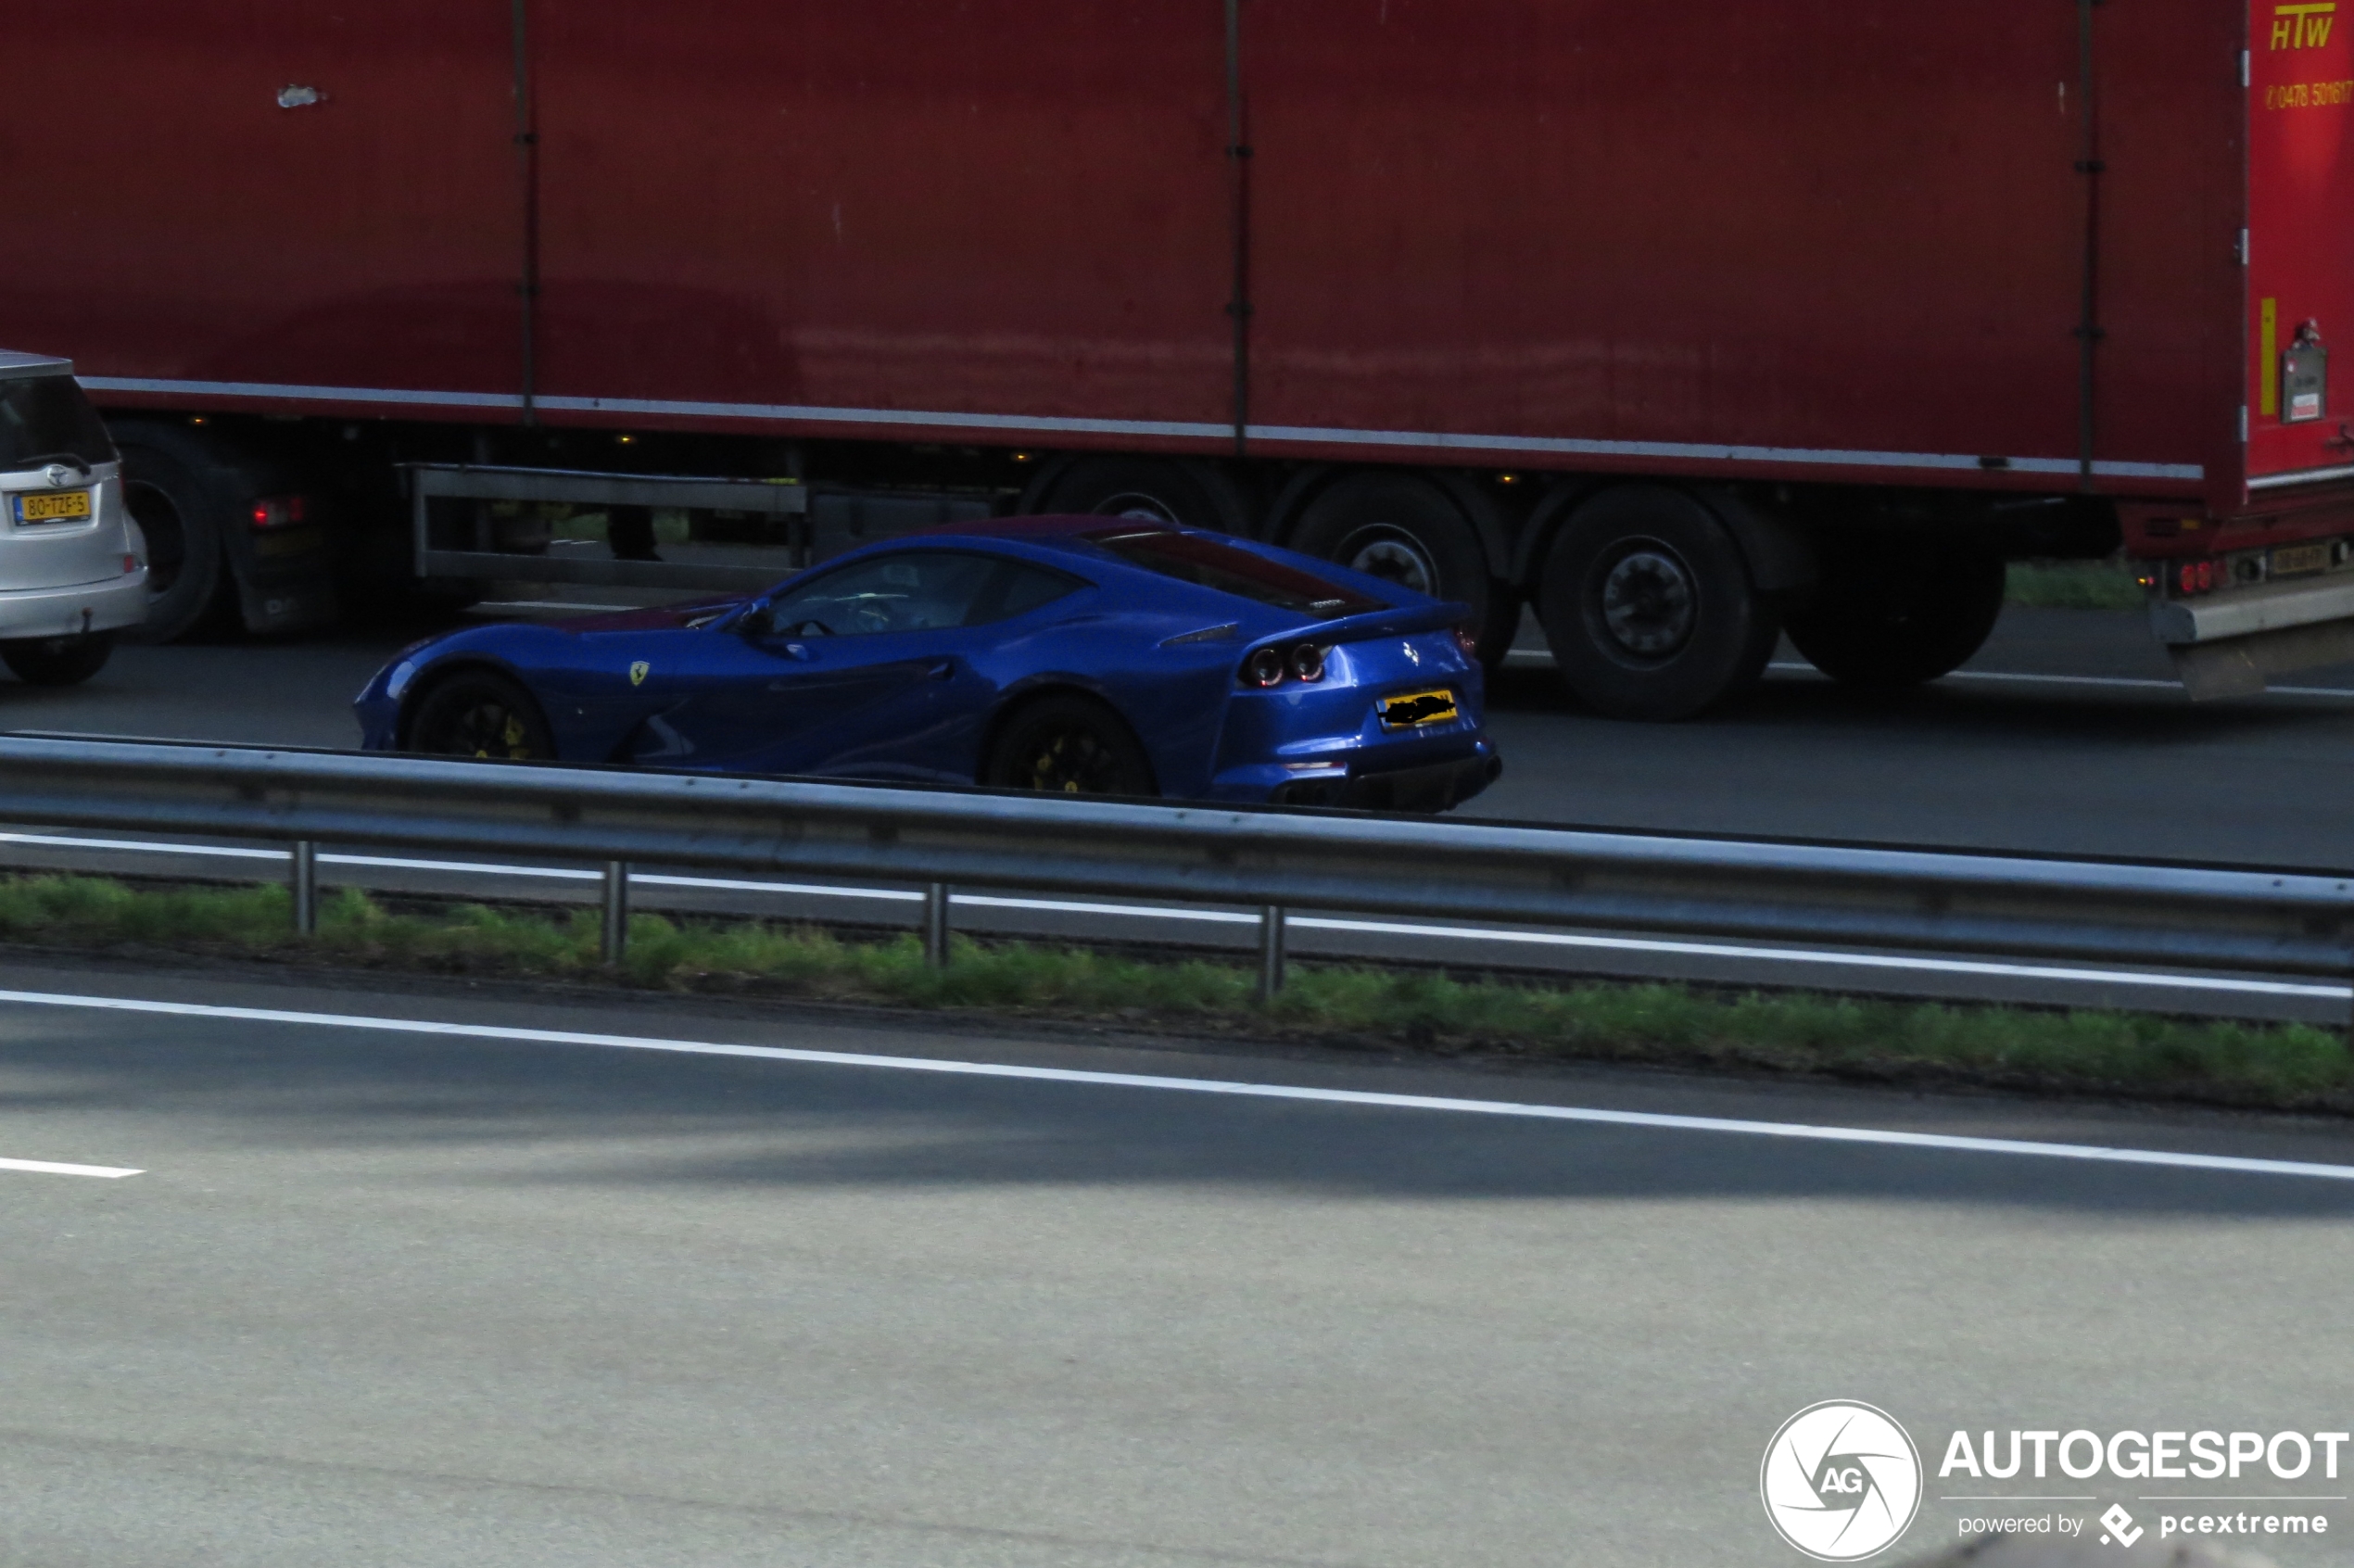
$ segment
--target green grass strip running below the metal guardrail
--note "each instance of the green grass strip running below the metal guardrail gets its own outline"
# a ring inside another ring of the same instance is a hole
[[[1653,1062],[1987,1083],[2354,1111],[2354,1055],[2335,1031],[2140,1012],[2062,1012],[1678,984],[1523,984],[1356,963],[1297,965],[1262,1005],[1255,970],[960,937],[946,970],[916,937],[852,942],[812,925],[638,913],[629,958],[598,961],[598,911],[487,904],[386,909],[325,899],[294,937],[285,888],[125,885],[97,876],[0,878],[0,939],[75,949],[593,979],[666,991],[796,996],[895,1008],[1281,1036],[1438,1052]]]

